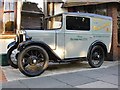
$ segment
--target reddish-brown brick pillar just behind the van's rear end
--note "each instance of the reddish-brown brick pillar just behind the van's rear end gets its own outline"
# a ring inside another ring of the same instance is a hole
[[[117,4],[110,3],[108,5],[108,16],[111,16],[113,19],[113,35],[112,35],[112,48],[111,56],[113,60],[118,60],[118,26],[117,26]]]

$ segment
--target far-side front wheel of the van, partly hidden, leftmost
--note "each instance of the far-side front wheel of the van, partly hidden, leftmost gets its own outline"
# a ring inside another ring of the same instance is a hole
[[[16,53],[16,47],[15,46],[11,47],[7,52],[8,63],[13,68],[18,68],[17,55],[18,55],[18,53]]]

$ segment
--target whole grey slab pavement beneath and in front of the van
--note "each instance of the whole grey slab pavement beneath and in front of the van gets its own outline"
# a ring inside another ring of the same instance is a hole
[[[105,61],[100,68],[87,62],[50,64],[40,76],[26,77],[18,69],[1,67],[6,81],[2,88],[118,88],[120,62]]]

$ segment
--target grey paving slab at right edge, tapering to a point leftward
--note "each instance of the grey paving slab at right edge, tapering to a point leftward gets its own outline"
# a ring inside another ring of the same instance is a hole
[[[110,68],[104,68],[104,69],[98,69],[98,70],[92,70],[92,71],[83,71],[83,72],[77,72],[77,75],[87,76],[89,78],[94,78],[100,81],[104,81],[107,83],[111,83],[114,85],[119,85],[118,83],[118,71],[116,71],[117,66],[110,67]]]

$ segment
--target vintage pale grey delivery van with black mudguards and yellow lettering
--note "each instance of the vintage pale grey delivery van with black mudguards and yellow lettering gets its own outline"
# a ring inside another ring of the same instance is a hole
[[[90,13],[62,13],[46,19],[44,30],[20,30],[8,45],[11,66],[27,76],[42,74],[49,61],[86,58],[100,67],[111,49],[112,18]]]

